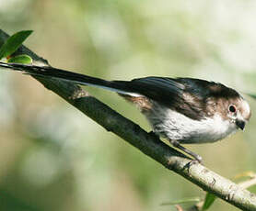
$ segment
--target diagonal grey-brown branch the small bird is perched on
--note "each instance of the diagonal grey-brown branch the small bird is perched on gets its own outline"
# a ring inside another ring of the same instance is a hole
[[[8,35],[0,29],[0,46]],[[22,46],[17,54],[28,54],[35,64],[49,65],[47,61]],[[122,117],[109,106],[101,103],[95,97],[73,83],[56,79],[42,79],[32,76],[47,89],[58,94],[72,106],[92,118],[100,126],[129,142],[145,155],[173,172],[179,173],[185,179],[195,183],[205,191],[215,194],[219,198],[235,205],[242,210],[256,210],[256,195],[242,189],[238,184],[210,171],[199,163],[191,164],[191,160],[179,151],[170,148],[156,137],[148,134],[131,120]],[[150,171],[150,170],[148,170]]]

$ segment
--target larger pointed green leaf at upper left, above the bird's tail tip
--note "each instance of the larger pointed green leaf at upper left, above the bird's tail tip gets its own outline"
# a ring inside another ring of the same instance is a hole
[[[0,60],[14,53],[32,32],[31,30],[19,31],[6,39],[6,42],[0,48]]]

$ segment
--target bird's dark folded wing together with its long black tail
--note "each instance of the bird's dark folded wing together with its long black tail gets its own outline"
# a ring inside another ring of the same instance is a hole
[[[205,117],[205,96],[209,82],[191,78],[145,77],[132,81],[105,81],[76,72],[68,72],[52,67],[41,67],[18,63],[5,63],[0,66],[26,72],[41,77],[54,77],[84,85],[98,86],[119,94],[132,96],[145,95],[181,114],[200,120]]]

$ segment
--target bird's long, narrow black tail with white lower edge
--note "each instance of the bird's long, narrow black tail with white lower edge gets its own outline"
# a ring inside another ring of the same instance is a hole
[[[130,95],[140,95],[134,93],[133,87],[131,87],[130,82],[125,81],[106,81],[100,78],[91,77],[85,74],[80,74],[76,72],[64,71],[57,68],[52,68],[49,66],[36,66],[30,64],[21,63],[6,63],[0,61],[0,67],[23,72],[25,74],[36,75],[40,77],[52,77],[61,79],[64,81],[97,86],[103,89],[111,90],[119,94],[130,94]]]

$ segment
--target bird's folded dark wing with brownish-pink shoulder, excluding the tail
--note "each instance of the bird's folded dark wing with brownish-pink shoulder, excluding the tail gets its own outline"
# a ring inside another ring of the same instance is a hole
[[[205,117],[204,96],[207,93],[204,86],[208,85],[207,81],[191,78],[145,77],[122,83],[126,83],[125,87],[132,93],[145,95],[187,117],[195,120]]]

